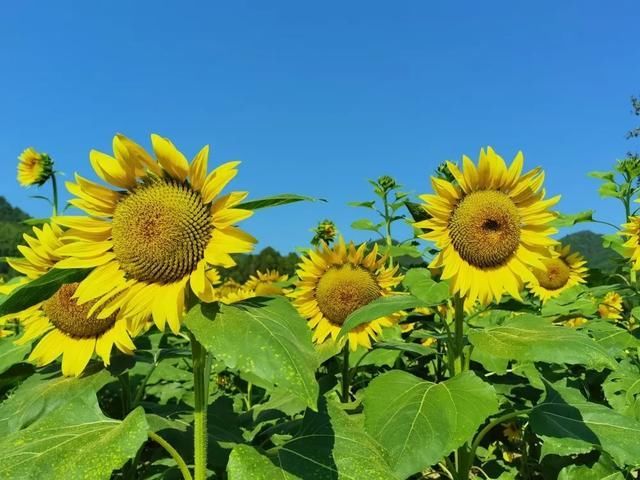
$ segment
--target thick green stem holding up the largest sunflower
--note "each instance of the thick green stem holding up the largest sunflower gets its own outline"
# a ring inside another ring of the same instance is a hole
[[[193,359],[193,388],[195,405],[193,411],[194,479],[207,478],[207,407],[209,403],[209,376],[211,357],[207,350],[190,334]]]

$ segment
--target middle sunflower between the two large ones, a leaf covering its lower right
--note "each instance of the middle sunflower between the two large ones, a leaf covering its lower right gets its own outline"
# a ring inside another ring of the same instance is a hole
[[[352,312],[391,295],[402,280],[396,275],[398,266],[385,266],[386,258],[378,255],[377,245],[368,254],[366,248],[366,244],[358,248],[353,243],[346,245],[340,238],[333,247],[323,243],[300,260],[300,280],[290,295],[300,314],[308,319],[316,343],[327,337],[336,340]],[[358,345],[371,348],[370,339],[377,338],[383,327],[396,320],[395,316],[388,316],[357,326],[348,333],[350,349],[356,350]]]

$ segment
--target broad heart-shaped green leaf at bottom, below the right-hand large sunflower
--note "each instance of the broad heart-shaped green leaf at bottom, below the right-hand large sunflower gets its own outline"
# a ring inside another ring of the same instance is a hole
[[[374,379],[364,398],[365,427],[401,478],[470,440],[497,409],[493,387],[471,372],[431,383],[393,370]]]

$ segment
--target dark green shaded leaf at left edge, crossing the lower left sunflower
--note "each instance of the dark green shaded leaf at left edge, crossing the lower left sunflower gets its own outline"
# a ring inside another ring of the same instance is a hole
[[[11,292],[11,295],[0,304],[0,317],[21,312],[36,303],[47,300],[62,285],[81,281],[89,271],[88,269],[50,270],[42,277]]]

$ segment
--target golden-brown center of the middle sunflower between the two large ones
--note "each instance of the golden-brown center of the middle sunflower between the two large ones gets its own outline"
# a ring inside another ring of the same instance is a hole
[[[316,288],[318,308],[337,325],[342,325],[351,313],[378,297],[380,287],[371,273],[353,265],[330,268]]]

